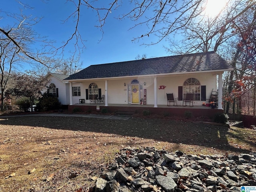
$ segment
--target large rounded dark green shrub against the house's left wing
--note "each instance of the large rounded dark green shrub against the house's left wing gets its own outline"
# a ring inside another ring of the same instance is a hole
[[[38,111],[49,111],[60,109],[60,102],[57,97],[50,94],[44,93],[36,104],[36,110]]]

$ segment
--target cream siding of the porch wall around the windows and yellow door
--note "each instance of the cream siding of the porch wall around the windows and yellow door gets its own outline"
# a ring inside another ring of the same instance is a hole
[[[167,105],[166,93],[173,93],[174,98],[178,98],[178,86],[183,86],[183,83],[188,78],[196,78],[199,80],[202,86],[206,86],[206,101],[209,99],[212,89],[217,90],[216,74],[208,73],[195,73],[195,74],[182,74],[182,75],[170,75],[157,77],[157,98],[158,105]],[[142,92],[147,90],[146,104],[154,105],[154,77],[144,78],[120,78],[108,80],[108,104],[128,104],[128,84],[132,80],[137,79],[142,85]],[[146,85],[144,86],[144,82]],[[101,94],[105,94],[105,80],[90,80],[81,83],[72,83],[72,86],[81,87],[81,96],[73,96],[73,104],[79,103],[79,99],[85,99],[86,103],[86,89],[91,83],[96,83],[98,88],[101,89]],[[126,83],[126,86],[124,86]],[[166,86],[165,89],[159,89],[160,86]],[[67,88],[69,89],[69,88]],[[59,91],[60,96],[60,91]],[[72,96],[72,93],[70,94]],[[202,105],[202,102],[196,101],[194,105]],[[182,104],[182,101],[180,101]]]

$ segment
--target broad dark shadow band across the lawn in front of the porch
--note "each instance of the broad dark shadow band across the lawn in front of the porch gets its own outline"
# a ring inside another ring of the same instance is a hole
[[[121,136],[139,137],[174,144],[188,144],[216,148],[236,153],[249,153],[250,150],[236,148],[230,145],[228,126],[185,122],[164,119],[131,118],[129,120],[110,120],[82,117],[24,116],[9,117],[0,120],[2,125],[38,126],[58,130],[73,130],[84,132],[102,132]],[[240,136],[242,142],[256,146]]]

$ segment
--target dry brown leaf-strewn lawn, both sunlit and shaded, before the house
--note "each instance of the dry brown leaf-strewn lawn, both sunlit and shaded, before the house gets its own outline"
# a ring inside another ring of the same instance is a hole
[[[255,130],[176,120],[0,117],[0,191],[88,191],[126,146],[240,154],[255,141]]]

